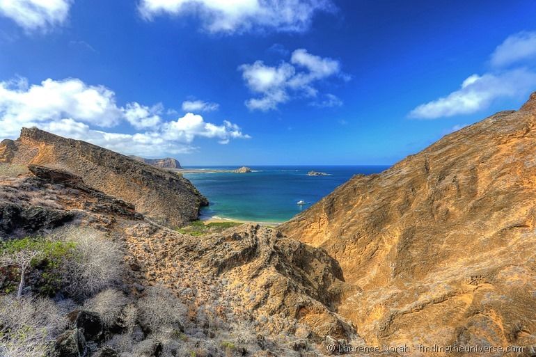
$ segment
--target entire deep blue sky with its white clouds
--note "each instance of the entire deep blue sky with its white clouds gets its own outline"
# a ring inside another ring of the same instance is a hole
[[[46,3],[45,5],[40,5]],[[393,164],[536,90],[534,1],[0,0],[0,137]]]

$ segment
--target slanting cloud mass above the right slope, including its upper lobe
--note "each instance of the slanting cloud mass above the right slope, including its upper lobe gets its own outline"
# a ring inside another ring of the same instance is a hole
[[[535,33],[522,32],[507,38],[491,55],[492,70],[467,77],[458,90],[420,104],[410,118],[436,119],[475,113],[502,98],[523,98],[536,88]],[[517,64],[512,67],[513,64]]]

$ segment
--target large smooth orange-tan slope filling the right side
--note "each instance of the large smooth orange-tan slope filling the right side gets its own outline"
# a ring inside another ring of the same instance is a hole
[[[347,283],[369,344],[536,342],[536,94],[285,223]]]

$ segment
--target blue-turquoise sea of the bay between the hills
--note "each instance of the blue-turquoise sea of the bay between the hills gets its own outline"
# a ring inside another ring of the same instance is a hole
[[[328,195],[358,173],[379,173],[388,166],[250,166],[253,173],[185,173],[210,201],[202,219],[283,222]],[[189,167],[199,168],[199,167]],[[206,168],[206,167],[203,167]],[[232,170],[236,166],[212,169]],[[308,176],[310,170],[329,176]],[[306,205],[297,205],[304,200]]]

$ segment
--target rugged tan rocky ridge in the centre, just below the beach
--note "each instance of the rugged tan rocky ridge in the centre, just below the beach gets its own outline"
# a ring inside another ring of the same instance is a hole
[[[356,287],[345,283],[338,263],[322,249],[251,224],[198,239],[140,223],[126,236],[140,278],[182,296],[195,292],[189,304],[227,296],[237,318],[254,319],[260,333],[295,333],[302,324],[312,338],[355,334],[336,311]]]

